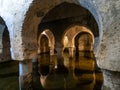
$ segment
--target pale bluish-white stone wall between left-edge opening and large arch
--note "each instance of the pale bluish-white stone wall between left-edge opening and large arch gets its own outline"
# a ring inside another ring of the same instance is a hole
[[[8,27],[11,55],[14,60],[23,60],[22,24],[32,0],[0,0],[0,16]]]

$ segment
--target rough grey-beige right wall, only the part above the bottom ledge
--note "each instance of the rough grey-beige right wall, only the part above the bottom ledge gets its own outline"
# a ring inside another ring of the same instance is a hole
[[[101,46],[97,56],[98,65],[103,69],[120,71],[120,0],[97,2],[99,2],[98,6],[104,25]]]

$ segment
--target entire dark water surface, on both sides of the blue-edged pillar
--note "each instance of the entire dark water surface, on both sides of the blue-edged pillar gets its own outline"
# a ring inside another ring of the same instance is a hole
[[[0,90],[19,90],[19,62],[0,63]],[[33,90],[101,90],[102,72],[93,54],[79,53],[73,58],[38,55],[33,62]]]

